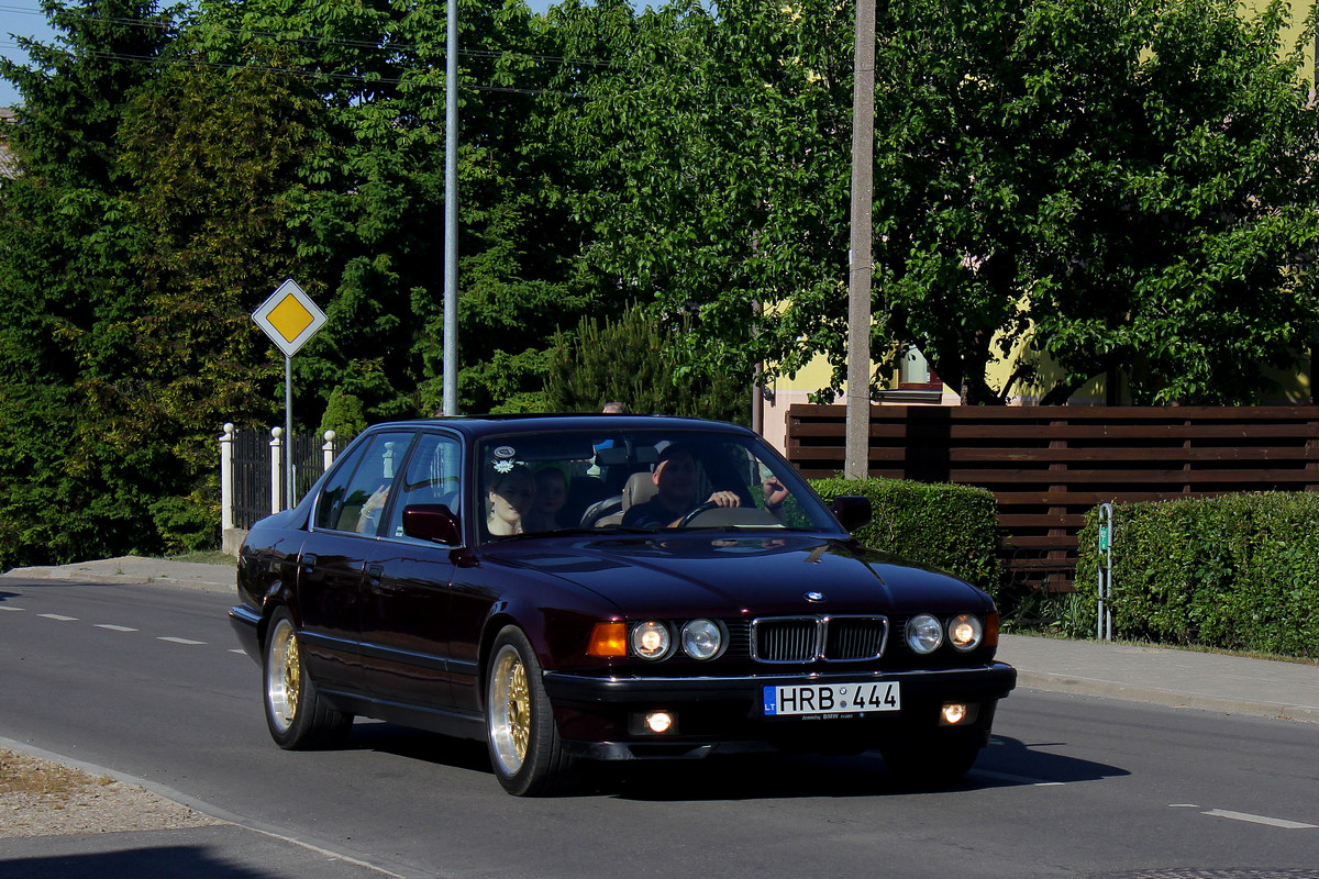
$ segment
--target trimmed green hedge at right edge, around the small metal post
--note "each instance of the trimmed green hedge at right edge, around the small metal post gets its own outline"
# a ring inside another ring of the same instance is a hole
[[[1095,631],[1097,510],[1076,589]],[[1319,658],[1319,494],[1229,494],[1113,507],[1113,634]]]

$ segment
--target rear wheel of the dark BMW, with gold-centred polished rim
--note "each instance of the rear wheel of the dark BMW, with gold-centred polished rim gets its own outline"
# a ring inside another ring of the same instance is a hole
[[[270,738],[285,750],[338,745],[352,729],[352,714],[324,704],[302,664],[293,617],[274,611],[262,652],[265,725]]]

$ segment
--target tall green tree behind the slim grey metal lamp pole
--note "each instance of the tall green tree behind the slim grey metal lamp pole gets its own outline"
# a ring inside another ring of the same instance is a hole
[[[294,361],[295,411],[335,390],[368,418],[430,412],[442,398],[446,7],[438,1],[203,4],[215,57],[291,49],[336,145],[293,223],[309,290],[330,318]],[[571,282],[575,239],[562,162],[537,94],[549,38],[525,4],[464,1],[459,376],[464,410],[539,406],[546,339],[592,310]]]

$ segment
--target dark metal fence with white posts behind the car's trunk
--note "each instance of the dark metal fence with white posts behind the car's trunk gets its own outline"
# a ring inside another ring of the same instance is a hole
[[[257,519],[294,506],[330,469],[335,432],[322,441],[313,434],[285,438],[282,427],[237,430],[232,423],[220,434],[220,535],[226,552],[237,552]],[[291,441],[290,441],[291,439]],[[293,461],[294,497],[285,498],[284,456]]]

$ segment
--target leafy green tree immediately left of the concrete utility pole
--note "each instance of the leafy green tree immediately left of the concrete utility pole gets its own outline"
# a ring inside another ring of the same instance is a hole
[[[844,362],[851,7],[624,0],[551,11],[591,270],[686,314],[685,364],[751,381]]]

